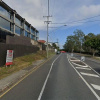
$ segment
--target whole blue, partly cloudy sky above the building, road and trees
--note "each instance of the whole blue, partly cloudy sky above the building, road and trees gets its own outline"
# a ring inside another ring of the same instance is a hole
[[[39,31],[46,40],[48,0],[3,0]],[[49,0],[49,42],[59,42],[60,48],[76,29],[84,34],[100,33],[100,0]],[[84,20],[83,20],[84,19]],[[81,20],[81,21],[79,21]],[[66,26],[65,26],[66,25]],[[51,28],[52,27],[52,28]]]

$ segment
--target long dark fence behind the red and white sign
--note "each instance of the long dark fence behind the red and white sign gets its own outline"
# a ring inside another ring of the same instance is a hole
[[[6,62],[7,50],[14,50],[14,58],[16,58],[30,53],[36,53],[39,47],[0,43],[0,66],[4,65]]]

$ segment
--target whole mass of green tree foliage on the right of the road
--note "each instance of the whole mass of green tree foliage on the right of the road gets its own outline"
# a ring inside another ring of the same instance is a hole
[[[69,52],[100,52],[100,34],[89,33],[85,35],[82,30],[75,30],[73,35],[67,37],[64,49]]]

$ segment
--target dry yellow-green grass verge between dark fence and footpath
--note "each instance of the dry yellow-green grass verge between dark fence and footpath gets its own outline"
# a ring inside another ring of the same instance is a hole
[[[49,57],[54,55],[54,52],[49,52]],[[33,62],[46,58],[45,51],[38,51],[35,54],[29,54],[26,56],[15,58],[13,65],[10,67],[2,66],[0,67],[0,79],[9,76],[12,73],[15,73],[23,68],[30,66]]]

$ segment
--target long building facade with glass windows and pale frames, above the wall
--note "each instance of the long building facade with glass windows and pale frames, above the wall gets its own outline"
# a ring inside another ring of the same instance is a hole
[[[39,39],[38,30],[0,0],[0,42],[6,40],[6,35],[25,36],[35,41]]]

